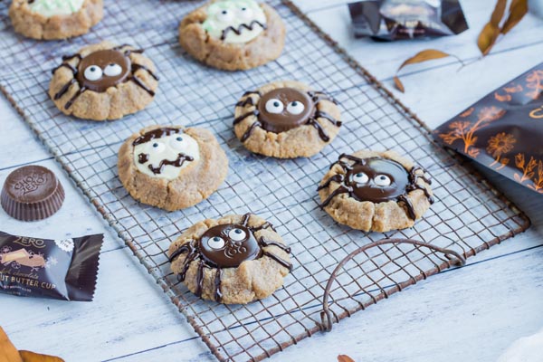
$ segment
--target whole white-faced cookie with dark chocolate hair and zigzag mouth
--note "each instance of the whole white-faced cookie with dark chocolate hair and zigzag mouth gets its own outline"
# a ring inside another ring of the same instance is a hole
[[[120,147],[118,168],[132,197],[174,211],[213,194],[226,177],[228,158],[207,129],[151,126]]]

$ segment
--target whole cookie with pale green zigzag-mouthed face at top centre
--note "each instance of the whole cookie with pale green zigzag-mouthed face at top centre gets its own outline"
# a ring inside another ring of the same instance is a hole
[[[281,55],[285,26],[269,5],[254,0],[212,1],[186,15],[179,43],[200,62],[247,70]]]

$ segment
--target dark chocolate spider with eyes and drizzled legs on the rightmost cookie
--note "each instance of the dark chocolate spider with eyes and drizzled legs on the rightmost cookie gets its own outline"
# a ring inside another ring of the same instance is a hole
[[[432,182],[424,175],[425,171],[422,167],[412,167],[408,171],[392,159],[359,158],[346,154],[340,155],[338,161],[330,168],[336,165],[341,167],[343,172],[329,177],[317,189],[319,191],[327,188],[332,182],[339,184],[319,205],[321,209],[327,207],[337,195],[348,194],[348,197],[357,201],[369,201],[376,204],[395,200],[405,205],[405,214],[415,220],[414,205],[408,195],[411,191],[424,191],[428,202],[433,204],[433,196],[430,195],[428,188],[418,182],[423,180],[428,185]]]

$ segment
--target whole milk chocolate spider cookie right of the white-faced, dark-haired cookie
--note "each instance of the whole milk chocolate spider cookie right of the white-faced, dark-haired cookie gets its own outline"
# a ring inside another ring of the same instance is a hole
[[[336,101],[297,81],[276,81],[246,92],[234,117],[233,131],[245,148],[280,158],[315,155],[341,126]]]

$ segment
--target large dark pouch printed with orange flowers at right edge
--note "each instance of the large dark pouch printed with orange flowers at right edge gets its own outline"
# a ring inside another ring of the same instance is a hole
[[[443,123],[433,136],[543,194],[543,63]]]

